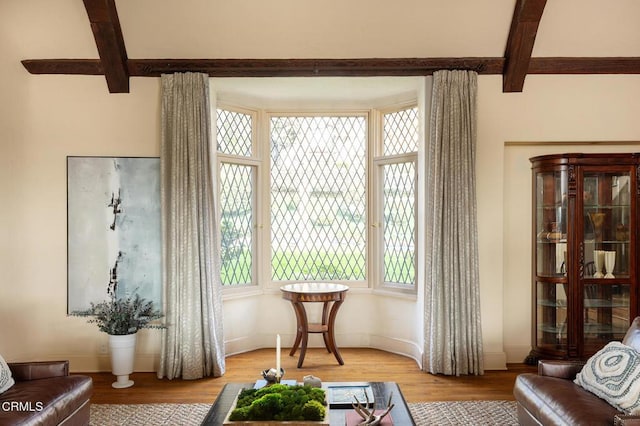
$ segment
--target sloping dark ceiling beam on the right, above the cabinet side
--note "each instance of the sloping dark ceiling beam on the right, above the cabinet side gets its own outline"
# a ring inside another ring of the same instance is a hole
[[[517,0],[504,54],[503,92],[522,92],[547,0]]]

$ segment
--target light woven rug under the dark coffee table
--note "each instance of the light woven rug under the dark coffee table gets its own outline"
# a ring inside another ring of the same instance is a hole
[[[418,426],[518,424],[514,401],[420,402],[408,405]],[[209,408],[210,404],[92,404],[90,425],[199,425]]]

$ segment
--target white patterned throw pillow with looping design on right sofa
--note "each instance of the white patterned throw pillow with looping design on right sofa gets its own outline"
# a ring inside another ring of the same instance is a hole
[[[610,342],[589,358],[575,383],[627,414],[640,414],[640,353]]]

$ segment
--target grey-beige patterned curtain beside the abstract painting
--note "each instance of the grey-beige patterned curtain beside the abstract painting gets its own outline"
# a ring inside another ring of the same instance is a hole
[[[209,77],[163,75],[160,145],[163,330],[158,377],[225,370]]]

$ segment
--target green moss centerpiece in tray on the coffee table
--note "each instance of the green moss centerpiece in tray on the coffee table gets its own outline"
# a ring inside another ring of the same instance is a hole
[[[311,386],[275,384],[261,389],[243,389],[229,413],[229,424],[247,421],[322,422],[327,415],[326,404],[325,391]]]

